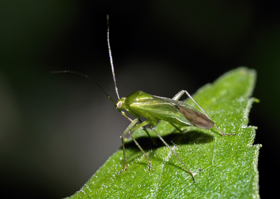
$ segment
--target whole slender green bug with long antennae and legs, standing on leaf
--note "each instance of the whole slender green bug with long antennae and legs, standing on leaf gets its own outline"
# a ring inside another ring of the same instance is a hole
[[[223,133],[217,125],[211,120],[211,118],[206,114],[206,112],[200,107],[200,105],[192,98],[192,96],[185,90],[180,91],[178,94],[176,94],[172,99],[169,98],[162,98],[158,96],[152,96],[150,94],[144,93],[143,91],[135,91],[131,94],[129,94],[126,98],[120,98],[116,83],[116,77],[115,77],[115,71],[114,71],[114,65],[113,65],[113,58],[112,58],[112,51],[110,47],[110,41],[109,41],[109,16],[107,15],[107,43],[108,43],[108,49],[109,49],[109,56],[110,56],[110,62],[111,62],[111,68],[112,68],[112,74],[115,84],[115,91],[118,96],[118,101],[116,102],[113,98],[111,98],[106,91],[92,78],[90,78],[87,75],[84,75],[79,72],[75,71],[55,71],[51,73],[75,73],[81,76],[84,76],[94,82],[106,95],[107,97],[115,103],[115,107],[120,113],[125,116],[127,119],[131,121],[130,125],[126,128],[126,130],[121,135],[121,144],[123,149],[123,161],[124,161],[124,168],[120,170],[118,174],[123,172],[127,168],[126,164],[126,157],[125,157],[125,148],[124,148],[124,136],[128,133],[129,136],[132,138],[132,140],[135,142],[135,144],[138,146],[138,148],[142,151],[144,156],[146,157],[147,161],[149,162],[149,170],[151,170],[152,162],[148,158],[148,155],[145,153],[145,151],[141,148],[141,146],[138,144],[138,142],[133,138],[131,133],[139,128],[146,131],[149,138],[153,141],[155,145],[156,142],[153,140],[153,138],[150,136],[149,132],[145,128],[146,125],[149,124],[149,127],[156,133],[156,135],[160,138],[160,140],[164,143],[164,145],[175,155],[175,157],[182,163],[182,165],[188,170],[190,175],[192,176],[194,182],[195,178],[193,173],[190,171],[190,169],[186,166],[186,164],[179,158],[179,156],[174,152],[173,149],[169,147],[169,145],[163,140],[163,138],[159,135],[159,133],[155,130],[155,126],[157,125],[158,120],[164,120],[172,124],[175,128],[177,128],[174,124],[181,125],[181,126],[195,126],[200,129],[211,129],[215,126],[215,128],[223,135],[236,135],[234,133]],[[201,111],[193,107],[192,105],[179,101],[179,99],[182,97],[182,95],[186,94],[190,99],[192,99],[195,104],[200,108]],[[126,116],[125,112],[122,110],[126,110],[131,115],[135,116],[136,118],[134,120],[130,119],[128,116]],[[140,117],[145,117],[147,120],[142,122],[140,120]],[[177,128],[178,129],[178,128]],[[178,129],[180,131],[180,129]]]

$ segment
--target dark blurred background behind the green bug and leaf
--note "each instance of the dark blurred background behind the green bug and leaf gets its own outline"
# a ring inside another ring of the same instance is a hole
[[[258,72],[249,125],[258,127],[260,196],[278,191],[280,1],[0,1],[0,198],[61,199],[121,146],[117,99],[136,90],[194,94],[223,73]]]

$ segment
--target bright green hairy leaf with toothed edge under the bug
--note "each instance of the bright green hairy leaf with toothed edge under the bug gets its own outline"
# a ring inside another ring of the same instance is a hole
[[[69,199],[257,199],[259,145],[252,145],[256,127],[247,126],[256,72],[244,67],[232,70],[194,96],[224,133],[217,129],[181,127],[179,132],[160,121],[156,130],[194,173],[196,183],[178,159],[155,138],[154,146],[143,130],[133,135],[146,151],[148,162],[131,139],[126,139],[128,168],[123,168],[122,149],[96,171]],[[192,101],[188,103],[194,105]]]

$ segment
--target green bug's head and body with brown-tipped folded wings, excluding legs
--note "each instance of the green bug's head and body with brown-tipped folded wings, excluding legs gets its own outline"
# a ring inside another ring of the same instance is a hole
[[[123,108],[138,118],[143,116],[152,126],[156,125],[158,120],[181,126],[193,125],[201,129],[211,129],[214,126],[211,119],[186,102],[152,96],[143,91],[133,92],[127,98],[118,100],[116,108]]]

